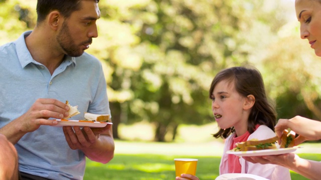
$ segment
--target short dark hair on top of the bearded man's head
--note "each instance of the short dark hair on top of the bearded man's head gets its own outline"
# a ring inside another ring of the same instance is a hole
[[[58,10],[64,17],[69,17],[74,11],[80,9],[81,0],[38,0],[37,2],[37,24],[46,19],[47,15]],[[94,0],[97,3],[99,0]]]

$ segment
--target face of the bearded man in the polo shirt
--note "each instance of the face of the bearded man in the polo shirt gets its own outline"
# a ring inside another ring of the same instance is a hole
[[[64,53],[80,56],[89,48],[93,37],[98,36],[96,20],[100,17],[98,4],[94,0],[82,0],[81,8],[65,18],[57,35],[57,42]]]

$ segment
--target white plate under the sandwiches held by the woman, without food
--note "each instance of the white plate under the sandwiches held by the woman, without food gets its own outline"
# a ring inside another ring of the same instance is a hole
[[[277,154],[283,154],[283,153],[289,153],[293,152],[298,147],[289,147],[289,148],[276,148],[276,149],[263,149],[263,150],[249,150],[249,151],[234,151],[228,150],[226,153],[228,154],[234,154],[237,156],[258,156],[258,155],[277,155]]]

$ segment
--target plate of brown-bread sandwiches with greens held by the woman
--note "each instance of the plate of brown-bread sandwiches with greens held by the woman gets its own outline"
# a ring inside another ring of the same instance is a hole
[[[294,152],[298,146],[294,146],[295,133],[284,130],[281,137],[281,144],[276,146],[278,137],[272,137],[263,140],[250,139],[244,142],[236,143],[234,149],[226,151],[228,154],[237,156],[261,156],[261,155],[278,155]]]

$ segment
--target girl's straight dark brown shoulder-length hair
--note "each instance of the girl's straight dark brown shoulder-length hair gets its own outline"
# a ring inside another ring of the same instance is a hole
[[[251,109],[247,127],[250,133],[254,132],[256,124],[266,125],[274,130],[276,111],[267,99],[262,75],[256,68],[231,67],[221,70],[212,81],[210,98],[215,86],[222,80],[227,80],[229,83],[234,82],[236,91],[244,97],[249,94],[254,95],[255,103]],[[234,127],[220,129],[213,136],[226,138],[234,131]]]

